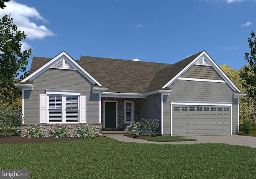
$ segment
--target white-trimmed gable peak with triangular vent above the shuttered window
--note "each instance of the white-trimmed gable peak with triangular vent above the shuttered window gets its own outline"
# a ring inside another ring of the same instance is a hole
[[[34,58],[33,58],[34,60]],[[41,60],[41,58],[35,58],[35,60]],[[35,62],[32,62],[30,75],[23,79],[21,82],[32,81],[42,73],[44,73],[49,68],[62,68],[62,69],[71,69],[71,70],[78,70],[85,78],[87,78],[92,84],[97,84],[98,86],[102,86],[100,82],[98,82],[91,74],[89,74],[84,68],[82,68],[72,57],[70,57],[65,51],[58,54],[56,57],[52,58],[42,58],[43,62],[46,62],[40,68],[36,69],[37,66],[34,65]],[[34,63],[34,64],[33,64]],[[42,64],[40,63],[40,64]],[[36,69],[36,70],[35,70]],[[33,70],[35,70],[33,72]]]

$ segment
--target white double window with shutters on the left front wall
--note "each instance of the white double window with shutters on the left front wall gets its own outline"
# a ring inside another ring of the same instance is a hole
[[[86,96],[80,93],[46,90],[40,94],[40,123],[86,123]]]

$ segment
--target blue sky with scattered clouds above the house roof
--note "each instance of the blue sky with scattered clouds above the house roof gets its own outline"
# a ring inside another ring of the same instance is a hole
[[[11,13],[28,35],[23,48],[50,57],[96,56],[174,64],[202,50],[218,64],[247,64],[256,31],[256,0],[11,0]]]

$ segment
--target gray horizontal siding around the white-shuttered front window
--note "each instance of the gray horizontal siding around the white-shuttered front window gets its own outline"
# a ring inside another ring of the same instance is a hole
[[[33,80],[33,91],[25,90],[25,124],[39,123],[39,95],[45,90],[81,91],[86,95],[87,123],[99,123],[99,93],[92,93],[92,83],[77,70],[49,69]]]

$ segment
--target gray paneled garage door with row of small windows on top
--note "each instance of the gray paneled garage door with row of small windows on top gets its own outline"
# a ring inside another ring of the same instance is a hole
[[[230,106],[172,106],[173,136],[230,135]]]

